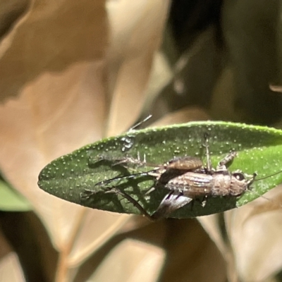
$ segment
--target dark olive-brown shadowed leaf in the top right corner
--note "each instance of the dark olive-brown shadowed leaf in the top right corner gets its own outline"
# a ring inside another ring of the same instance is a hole
[[[221,36],[233,68],[237,121],[271,124],[281,117],[281,97],[269,89],[281,82],[280,17],[280,1],[223,1]]]

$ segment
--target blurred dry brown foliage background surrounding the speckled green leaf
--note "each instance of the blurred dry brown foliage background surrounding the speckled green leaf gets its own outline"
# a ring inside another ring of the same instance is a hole
[[[0,3],[0,281],[281,281],[279,188],[149,223],[37,187],[49,161],[149,123],[281,125],[281,1]]]

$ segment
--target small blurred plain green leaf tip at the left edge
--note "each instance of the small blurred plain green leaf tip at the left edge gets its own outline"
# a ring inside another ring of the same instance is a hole
[[[4,180],[0,179],[0,210],[5,212],[27,212],[32,206]]]

